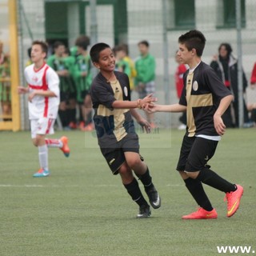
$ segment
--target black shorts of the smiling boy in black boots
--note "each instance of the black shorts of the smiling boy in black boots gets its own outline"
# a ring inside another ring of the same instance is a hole
[[[134,136],[136,135],[136,136]],[[138,135],[127,134],[115,147],[101,147],[102,154],[113,174],[118,174],[119,168],[126,162],[125,152],[135,152],[139,154]],[[143,158],[141,157],[142,161]]]

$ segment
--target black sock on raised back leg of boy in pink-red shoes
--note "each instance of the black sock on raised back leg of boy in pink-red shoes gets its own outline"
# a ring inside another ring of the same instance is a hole
[[[218,176],[218,174],[208,168],[200,170],[196,179],[225,193],[236,190],[236,186],[234,184],[226,181],[226,179]]]

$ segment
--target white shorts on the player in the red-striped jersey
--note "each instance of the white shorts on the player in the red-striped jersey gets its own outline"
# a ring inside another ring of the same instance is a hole
[[[37,134],[54,134],[54,122],[53,118],[31,119],[31,138],[36,138]]]

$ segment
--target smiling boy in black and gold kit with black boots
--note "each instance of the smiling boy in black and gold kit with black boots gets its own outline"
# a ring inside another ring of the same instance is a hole
[[[152,95],[130,101],[130,84],[126,74],[115,69],[114,53],[106,43],[97,43],[90,50],[90,58],[100,71],[94,78],[90,94],[94,107],[94,124],[98,144],[113,174],[120,174],[122,184],[138,204],[137,218],[150,216],[150,206],[142,195],[134,173],[144,185],[154,209],[161,206],[161,199],[150,176],[150,170],[139,154],[138,135],[134,121],[150,131],[150,123],[135,110],[153,102]]]

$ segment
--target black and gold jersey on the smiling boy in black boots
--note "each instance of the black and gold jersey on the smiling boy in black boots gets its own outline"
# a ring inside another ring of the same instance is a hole
[[[126,74],[114,71],[116,82],[107,82],[99,73],[92,82],[90,95],[94,107],[94,124],[98,144],[112,147],[126,134],[135,134],[134,121],[129,109],[114,109],[115,100],[130,101],[130,84]]]

